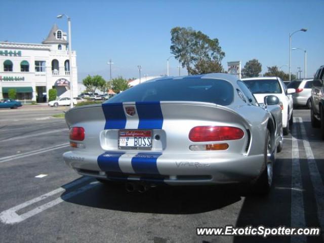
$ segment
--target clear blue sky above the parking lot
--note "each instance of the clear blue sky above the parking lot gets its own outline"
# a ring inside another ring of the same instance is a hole
[[[289,33],[292,48],[307,51],[307,76],[324,65],[323,0],[119,0],[119,1],[5,1],[1,5],[0,41],[41,43],[56,23],[67,32],[71,18],[72,49],[77,54],[78,81],[90,74],[138,77],[167,73],[173,27],[192,27],[218,38],[228,61],[251,59],[267,66],[289,64]],[[178,75],[178,61],[170,58],[170,75]],[[292,73],[304,71],[304,52],[292,51]],[[288,73],[288,67],[282,70]],[[181,75],[186,70],[181,69]],[[303,72],[302,72],[303,76]]]

